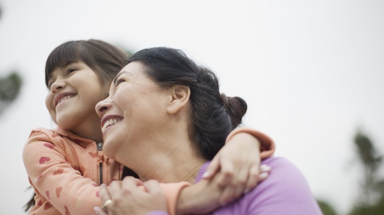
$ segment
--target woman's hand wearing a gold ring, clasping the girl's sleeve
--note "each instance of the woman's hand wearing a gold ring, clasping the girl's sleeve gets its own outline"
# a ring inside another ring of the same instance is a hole
[[[146,190],[139,187],[141,185]],[[97,215],[143,215],[151,211],[167,211],[166,197],[156,180],[142,182],[125,177],[123,181],[112,182],[109,188],[100,186],[99,193],[105,209],[96,207]],[[110,203],[105,205],[107,200]]]

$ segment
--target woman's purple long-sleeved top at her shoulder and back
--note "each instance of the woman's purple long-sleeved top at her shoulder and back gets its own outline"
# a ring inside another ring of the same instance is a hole
[[[322,215],[307,181],[296,166],[282,157],[271,157],[261,163],[271,167],[268,178],[211,215]],[[201,180],[208,164],[201,166],[196,182]]]

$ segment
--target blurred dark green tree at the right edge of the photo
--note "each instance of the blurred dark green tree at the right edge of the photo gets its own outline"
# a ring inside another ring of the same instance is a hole
[[[379,178],[382,156],[371,139],[358,131],[354,145],[364,169],[361,194],[349,215],[384,215],[384,179]]]

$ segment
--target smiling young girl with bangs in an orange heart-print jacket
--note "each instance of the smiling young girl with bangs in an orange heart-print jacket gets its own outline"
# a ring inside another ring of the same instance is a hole
[[[126,57],[125,52],[99,40],[66,42],[48,56],[46,107],[58,128],[32,130],[24,147],[23,161],[35,192],[29,214],[93,214],[94,207],[101,204],[98,186],[121,178],[123,166],[103,154],[95,106],[107,97]],[[224,202],[239,196],[244,188],[256,186],[257,177],[253,176],[258,173],[260,157],[269,157],[274,151],[273,142],[256,131],[239,129],[233,134],[207,171],[210,178],[221,168],[217,183],[228,184]],[[232,179],[233,172],[240,174]],[[185,185],[171,184],[163,189],[168,199],[176,199]],[[176,207],[172,204],[171,213]]]

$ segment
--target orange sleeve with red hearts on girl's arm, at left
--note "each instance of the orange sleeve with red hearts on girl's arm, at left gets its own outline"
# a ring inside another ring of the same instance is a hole
[[[93,208],[101,205],[99,188],[67,161],[64,139],[51,131],[32,131],[23,149],[23,161],[30,182],[36,192],[36,214],[94,214]],[[30,212],[32,213],[32,212]]]

